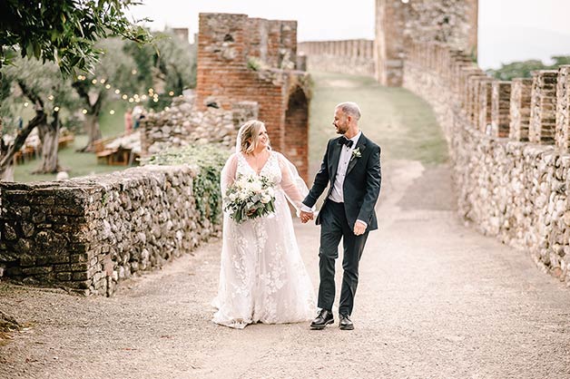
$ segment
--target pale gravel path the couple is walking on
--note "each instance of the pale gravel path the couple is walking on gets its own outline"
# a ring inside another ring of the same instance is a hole
[[[217,240],[112,298],[0,284],[0,309],[30,324],[0,345],[0,378],[570,377],[570,290],[464,227],[448,172],[384,168],[354,331],[211,324]],[[316,287],[319,229],[296,231]]]

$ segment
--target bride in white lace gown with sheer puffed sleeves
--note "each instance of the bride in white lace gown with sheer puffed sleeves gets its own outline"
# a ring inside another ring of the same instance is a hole
[[[212,321],[244,328],[249,324],[307,321],[315,311],[315,294],[300,257],[287,199],[300,210],[309,192],[295,167],[271,151],[261,121],[248,121],[238,133],[236,152],[221,171],[221,192],[238,175],[264,176],[275,183],[275,212],[237,223],[223,216],[220,287]],[[287,198],[287,199],[286,199]]]

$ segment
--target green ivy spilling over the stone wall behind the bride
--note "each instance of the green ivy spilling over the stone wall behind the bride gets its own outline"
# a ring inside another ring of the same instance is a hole
[[[220,174],[231,151],[217,145],[192,145],[169,149],[142,160],[143,164],[172,166],[188,164],[197,166],[199,174],[194,178],[193,191],[196,208],[201,219],[221,223]]]

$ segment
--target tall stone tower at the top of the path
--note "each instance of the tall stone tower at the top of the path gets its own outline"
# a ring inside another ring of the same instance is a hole
[[[376,0],[379,83],[402,84],[410,43],[439,42],[477,57],[478,0]]]

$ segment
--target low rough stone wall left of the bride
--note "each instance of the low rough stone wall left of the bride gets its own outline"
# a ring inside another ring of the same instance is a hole
[[[117,282],[220,231],[196,209],[197,168],[146,166],[57,182],[0,182],[0,267],[26,284],[112,295]]]

